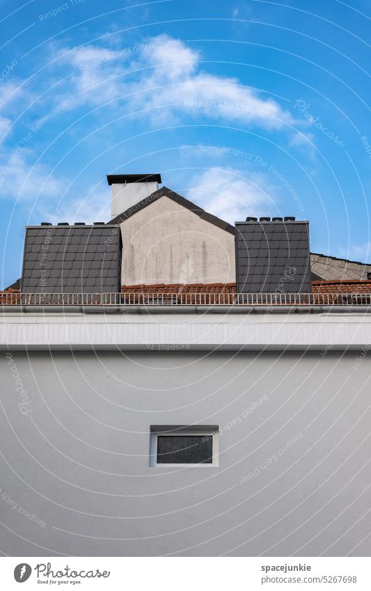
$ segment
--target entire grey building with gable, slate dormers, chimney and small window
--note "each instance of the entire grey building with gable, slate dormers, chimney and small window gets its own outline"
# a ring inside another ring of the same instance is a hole
[[[3,551],[369,555],[368,266],[108,180],[1,294]]]

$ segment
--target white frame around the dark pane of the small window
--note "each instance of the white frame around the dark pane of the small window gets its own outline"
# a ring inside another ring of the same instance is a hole
[[[181,464],[166,464],[157,463],[157,439],[159,435],[204,435],[207,437],[212,436],[212,462],[203,464],[198,462],[197,464],[187,464],[182,462]],[[215,425],[210,426],[197,426],[187,427],[178,425],[166,425],[157,426],[152,425],[150,430],[150,467],[161,467],[161,468],[216,468],[219,466],[219,427]]]

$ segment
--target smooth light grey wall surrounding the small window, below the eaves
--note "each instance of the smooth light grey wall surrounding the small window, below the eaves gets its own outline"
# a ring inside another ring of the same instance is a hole
[[[367,354],[12,355],[4,553],[370,555]],[[191,423],[219,467],[150,468],[150,425]]]

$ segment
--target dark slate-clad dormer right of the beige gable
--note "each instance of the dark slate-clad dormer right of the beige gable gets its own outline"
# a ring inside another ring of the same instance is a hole
[[[308,221],[236,222],[239,293],[311,291]]]

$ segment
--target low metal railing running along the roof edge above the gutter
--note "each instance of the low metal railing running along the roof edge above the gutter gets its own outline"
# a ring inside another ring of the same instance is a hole
[[[14,293],[3,306],[370,306],[371,294]]]

